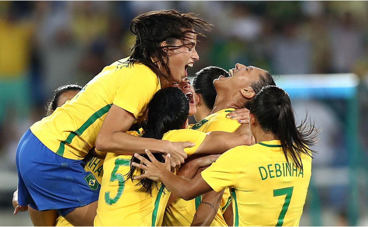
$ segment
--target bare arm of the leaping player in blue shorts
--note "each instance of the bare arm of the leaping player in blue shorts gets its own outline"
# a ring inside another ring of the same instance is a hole
[[[171,166],[184,163],[187,155],[184,148],[191,147],[191,142],[169,142],[158,139],[142,138],[126,134],[125,132],[134,123],[132,113],[112,105],[102,124],[96,139],[96,149],[103,152],[123,153],[133,155],[143,153],[144,149],[152,149],[153,152],[170,153],[173,157]]]

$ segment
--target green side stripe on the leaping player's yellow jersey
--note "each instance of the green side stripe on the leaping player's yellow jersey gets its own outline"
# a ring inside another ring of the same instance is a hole
[[[84,124],[82,124],[82,126],[80,128],[78,128],[74,132],[70,132],[70,134],[68,135],[67,139],[60,142],[60,146],[59,146],[59,149],[57,149],[56,154],[59,155],[59,156],[61,156],[61,157],[63,157],[63,155],[64,155],[64,149],[65,149],[65,144],[66,143],[67,144],[70,144],[76,135],[79,135],[79,136],[82,135],[82,133],[89,126],[91,126],[98,118],[100,118],[104,114],[106,114],[110,110],[110,107],[112,105],[113,104],[107,104],[106,106],[104,106],[101,109],[97,110],[94,114],[92,114],[91,117],[88,118],[88,120],[86,120],[86,122]]]

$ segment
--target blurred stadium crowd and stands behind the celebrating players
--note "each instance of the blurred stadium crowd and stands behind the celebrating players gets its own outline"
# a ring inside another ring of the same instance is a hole
[[[32,224],[28,213],[12,214],[15,150],[23,132],[45,115],[53,90],[84,85],[127,56],[131,19],[162,9],[194,12],[215,25],[199,39],[200,60],[190,75],[239,62],[280,75],[279,81],[303,74],[299,84],[334,88],[328,96],[291,95],[297,117],[308,110],[322,130],[300,225],[367,226],[366,1],[1,1],[0,225]],[[321,81],[310,75],[337,73],[356,76],[339,83],[337,75]],[[353,84],[350,95],[339,95],[346,83]]]

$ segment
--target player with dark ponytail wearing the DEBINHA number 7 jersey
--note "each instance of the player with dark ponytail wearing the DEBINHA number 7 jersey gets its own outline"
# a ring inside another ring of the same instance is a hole
[[[311,177],[315,145],[314,125],[303,121],[296,127],[289,95],[277,86],[267,86],[254,98],[250,127],[257,144],[230,149],[192,180],[170,172],[164,163],[135,154],[145,171],[136,180],[148,177],[161,181],[184,199],[205,192],[231,188],[234,226],[298,226]],[[231,165],[229,165],[231,163]],[[191,185],[191,187],[183,187]]]

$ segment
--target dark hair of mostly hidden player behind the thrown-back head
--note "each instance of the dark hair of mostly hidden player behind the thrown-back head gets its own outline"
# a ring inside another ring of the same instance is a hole
[[[229,72],[216,66],[202,68],[200,71],[194,74],[194,91],[202,96],[205,105],[210,110],[213,109],[213,105],[215,104],[215,99],[217,96],[215,85],[213,85],[213,80],[219,78],[221,75],[224,77],[230,77]]]

